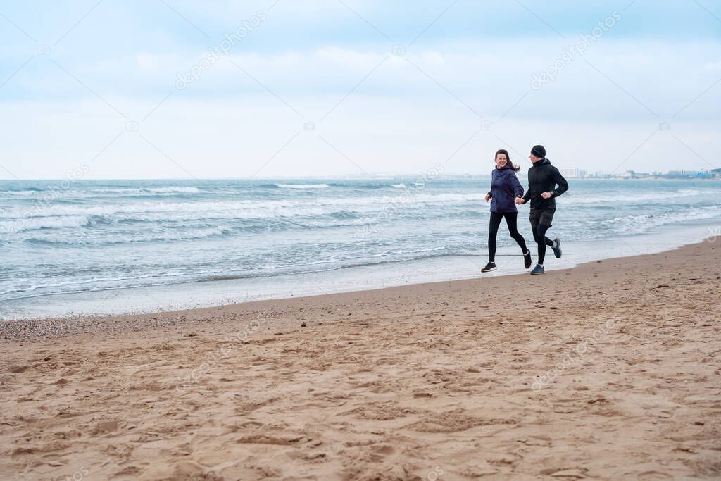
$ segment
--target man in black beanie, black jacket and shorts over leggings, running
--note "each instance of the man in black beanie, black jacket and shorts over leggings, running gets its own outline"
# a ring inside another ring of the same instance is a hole
[[[561,239],[551,240],[546,237],[546,232],[551,228],[556,213],[556,198],[568,190],[568,182],[546,158],[544,146],[534,146],[528,159],[534,164],[528,169],[528,191],[523,198],[517,198],[516,203],[524,204],[531,200],[531,214],[528,219],[531,221],[534,239],[539,246],[539,262],[534,270],[531,270],[531,274],[543,274],[546,272],[543,267],[546,246],[553,249],[557,259],[561,258]]]

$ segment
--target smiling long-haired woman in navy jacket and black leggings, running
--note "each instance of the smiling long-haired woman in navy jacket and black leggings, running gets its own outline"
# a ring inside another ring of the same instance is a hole
[[[523,263],[526,269],[531,267],[531,252],[526,248],[526,240],[518,232],[517,220],[518,209],[516,208],[515,199],[521,198],[523,195],[523,187],[518,182],[516,172],[521,167],[516,167],[510,162],[508,151],[500,149],[495,156],[496,168],[491,172],[491,191],[486,194],[486,202],[491,201],[491,220],[488,229],[488,263],[481,272],[490,272],[496,270],[495,251],[496,251],[496,235],[500,221],[505,218],[505,224],[510,231],[510,237],[518,243],[523,252]]]

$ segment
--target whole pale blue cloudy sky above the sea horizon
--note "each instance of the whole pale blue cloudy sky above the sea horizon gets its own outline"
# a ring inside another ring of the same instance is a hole
[[[0,179],[721,167],[721,2],[0,0]]]

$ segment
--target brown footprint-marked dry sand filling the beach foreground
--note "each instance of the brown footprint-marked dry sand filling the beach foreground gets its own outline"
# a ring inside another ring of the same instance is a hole
[[[718,479],[720,294],[721,245],[702,243],[536,277],[6,323],[0,477]]]

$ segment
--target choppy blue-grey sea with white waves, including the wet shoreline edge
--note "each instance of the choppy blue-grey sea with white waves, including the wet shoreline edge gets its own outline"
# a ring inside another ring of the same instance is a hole
[[[521,176],[521,182],[526,180]],[[524,272],[490,177],[0,181],[0,319],[124,314]],[[721,182],[570,180],[547,270],[721,246]],[[532,248],[528,206],[518,224]],[[532,250],[534,252],[534,250]],[[535,257],[535,254],[534,254]],[[622,268],[622,267],[619,267]]]

